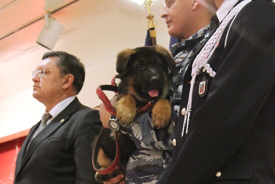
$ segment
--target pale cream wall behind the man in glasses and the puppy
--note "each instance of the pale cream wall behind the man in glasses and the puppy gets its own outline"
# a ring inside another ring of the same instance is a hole
[[[167,28],[159,18],[162,5],[162,0],[155,0],[152,14],[158,22],[157,43],[167,48]],[[84,105],[100,103],[95,89],[109,84],[116,74],[116,54],[144,45],[146,15],[129,0],[81,0],[53,15],[72,30],[59,38],[54,50],[71,53],[85,65],[86,78],[78,95]],[[44,106],[32,97],[31,71],[47,51],[33,43],[22,54],[0,63],[0,137],[28,129],[40,119]]]

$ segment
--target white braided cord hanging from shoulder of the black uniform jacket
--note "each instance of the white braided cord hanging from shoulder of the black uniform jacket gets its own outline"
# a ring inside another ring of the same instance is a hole
[[[208,60],[213,55],[216,47],[218,46],[218,43],[220,41],[220,38],[228,25],[228,23],[240,12],[240,10],[248,3],[250,3],[252,0],[244,0],[241,3],[239,3],[236,7],[234,7],[229,14],[222,20],[222,23],[219,25],[219,27],[216,29],[215,33],[211,36],[211,38],[206,42],[206,44],[203,46],[199,54],[196,56],[193,64],[192,64],[192,72],[191,72],[191,86],[189,91],[189,97],[188,97],[188,103],[187,103],[187,110],[183,110],[184,112],[184,121],[183,121],[183,127],[181,132],[181,137],[184,134],[184,129],[186,126],[185,133],[188,133],[188,126],[190,122],[190,114],[191,114],[191,108],[192,108],[192,94],[193,94],[193,88],[195,83],[195,78],[198,75],[200,69],[203,67],[203,69],[209,74],[209,76],[214,77],[215,72],[212,70],[210,65],[207,63]],[[232,21],[233,22],[233,21]],[[232,25],[232,23],[231,23]],[[231,27],[230,25],[230,27]],[[229,30],[228,30],[229,31]]]

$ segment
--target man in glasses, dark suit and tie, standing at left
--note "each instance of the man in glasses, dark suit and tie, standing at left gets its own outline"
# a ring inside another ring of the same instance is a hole
[[[49,52],[42,57],[32,73],[33,97],[45,105],[48,119],[34,125],[25,138],[14,184],[97,183],[91,143],[101,129],[99,114],[75,97],[84,77],[84,66],[75,56]]]

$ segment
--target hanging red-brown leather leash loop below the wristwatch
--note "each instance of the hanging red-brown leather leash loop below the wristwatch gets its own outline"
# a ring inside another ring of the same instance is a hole
[[[95,142],[95,145],[93,147],[92,150],[92,167],[93,169],[98,172],[99,174],[107,174],[109,172],[111,172],[113,169],[115,169],[115,167],[117,166],[118,162],[119,162],[119,158],[120,158],[120,151],[119,151],[119,145],[118,145],[118,138],[117,138],[117,134],[115,132],[115,156],[113,161],[111,162],[111,164],[106,167],[106,168],[99,168],[98,167],[98,163],[97,163],[97,157],[98,157],[98,151],[100,148],[100,144],[103,140],[103,137],[106,136],[106,134],[109,132],[108,128],[102,128],[97,139]]]

